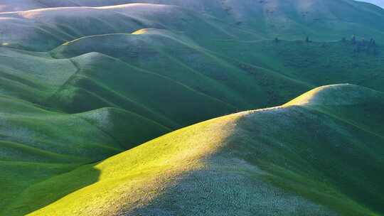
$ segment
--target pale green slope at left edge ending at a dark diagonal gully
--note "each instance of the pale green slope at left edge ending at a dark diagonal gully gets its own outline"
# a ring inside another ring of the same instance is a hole
[[[78,70],[69,59],[48,53],[0,48],[0,93],[36,104],[54,94]]]

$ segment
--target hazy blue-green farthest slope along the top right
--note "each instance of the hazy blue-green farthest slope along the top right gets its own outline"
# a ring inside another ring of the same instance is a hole
[[[131,1],[137,2],[137,1]],[[153,2],[142,1],[140,2]],[[384,10],[353,0],[156,1],[208,13],[267,38],[335,40],[352,34],[383,37]]]

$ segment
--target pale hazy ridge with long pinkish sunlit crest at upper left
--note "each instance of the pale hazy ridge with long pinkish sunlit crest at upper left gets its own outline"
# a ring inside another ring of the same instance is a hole
[[[140,28],[183,31],[198,41],[206,41],[207,37],[226,39],[234,32],[250,34],[217,18],[160,4],[48,8],[4,12],[0,17],[0,45],[36,51],[51,50],[84,36],[132,33]],[[203,31],[206,36],[201,38],[197,31]]]

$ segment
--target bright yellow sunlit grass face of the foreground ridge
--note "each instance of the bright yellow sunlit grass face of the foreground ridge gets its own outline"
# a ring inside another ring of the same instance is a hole
[[[240,117],[242,114],[233,114],[189,126],[95,166],[80,168],[85,173],[100,172],[97,182],[31,215],[113,215],[122,208],[145,205],[161,195],[178,175],[204,166],[203,159],[218,151]],[[58,176],[55,182],[69,180],[70,184],[71,177]]]

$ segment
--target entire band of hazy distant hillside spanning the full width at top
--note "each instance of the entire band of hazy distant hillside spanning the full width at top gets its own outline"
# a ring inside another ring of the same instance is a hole
[[[384,42],[384,10],[354,0],[23,0],[4,5],[3,11],[20,9],[18,5],[25,6],[22,9],[39,9],[0,15],[5,43],[34,50],[53,48],[59,42],[80,36],[127,33],[139,27],[186,31],[204,45],[210,45],[209,37],[297,40],[310,36],[317,41],[329,41],[353,34],[375,36]],[[73,8],[51,9],[60,6]],[[19,30],[9,31],[9,25],[17,25]]]

